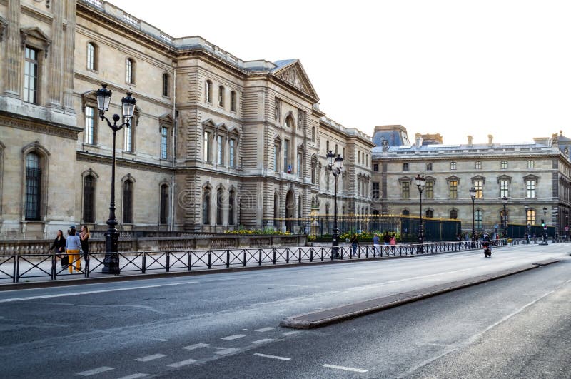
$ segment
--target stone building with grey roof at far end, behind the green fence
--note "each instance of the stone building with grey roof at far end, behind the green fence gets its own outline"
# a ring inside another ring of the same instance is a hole
[[[378,126],[373,141],[373,210],[379,213],[418,215],[420,193],[415,176],[425,176],[423,216],[458,218],[463,229],[472,227],[475,188],[475,228],[502,228],[503,198],[506,221],[539,225],[547,208],[547,225],[562,234],[571,213],[571,140],[554,134],[530,143],[424,144],[394,138],[402,126]],[[393,138],[391,140],[391,138]],[[392,143],[389,143],[392,141]],[[527,206],[527,214],[526,214]]]

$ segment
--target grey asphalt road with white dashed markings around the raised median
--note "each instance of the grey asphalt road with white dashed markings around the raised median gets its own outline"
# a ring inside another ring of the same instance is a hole
[[[567,244],[0,293],[4,378],[570,378]],[[318,330],[279,321],[560,258]]]

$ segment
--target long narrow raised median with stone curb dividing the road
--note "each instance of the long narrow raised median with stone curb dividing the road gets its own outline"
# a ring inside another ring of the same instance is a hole
[[[436,295],[459,290],[461,288],[470,287],[487,281],[504,278],[505,276],[522,273],[524,271],[532,270],[540,266],[547,266],[551,263],[559,262],[559,259],[547,259],[537,263],[529,263],[527,265],[510,268],[504,271],[497,271],[495,273],[475,276],[460,281],[453,281],[439,285],[433,285],[428,288],[420,290],[412,290],[406,293],[397,293],[395,295],[385,296],[384,298],[374,298],[365,300],[360,303],[353,303],[342,305],[340,307],[328,308],[325,310],[318,310],[310,313],[303,313],[300,315],[293,315],[284,318],[280,322],[280,326],[293,329],[313,329],[321,328],[332,323],[340,323],[345,320],[357,318],[370,313],[376,313],[381,310],[395,308],[399,305],[413,303],[425,298],[431,298]]]

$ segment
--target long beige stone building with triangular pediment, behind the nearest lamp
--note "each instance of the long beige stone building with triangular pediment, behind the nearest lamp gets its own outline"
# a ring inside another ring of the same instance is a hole
[[[340,213],[370,210],[371,138],[325,117],[297,59],[242,61],[105,1],[0,0],[0,63],[0,238],[106,228],[101,83],[108,116],[127,91],[137,100],[116,138],[123,230],[260,228],[312,203],[333,213],[327,150],[345,157]]]

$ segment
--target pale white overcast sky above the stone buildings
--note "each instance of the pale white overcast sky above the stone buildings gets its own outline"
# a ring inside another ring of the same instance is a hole
[[[571,138],[571,1],[110,2],[243,60],[300,59],[320,109],[369,135]]]

